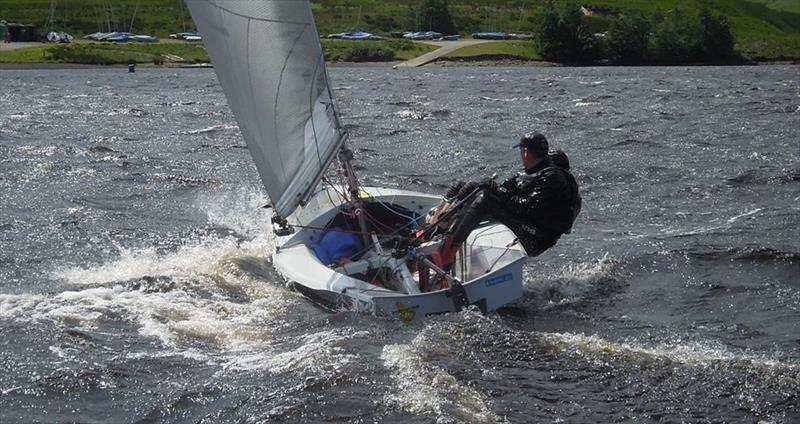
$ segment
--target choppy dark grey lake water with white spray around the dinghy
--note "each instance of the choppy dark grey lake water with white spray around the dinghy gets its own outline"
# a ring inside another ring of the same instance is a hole
[[[797,67],[334,69],[362,179],[585,207],[524,300],[405,325],[285,288],[213,72],[0,72],[0,422],[798,422]]]

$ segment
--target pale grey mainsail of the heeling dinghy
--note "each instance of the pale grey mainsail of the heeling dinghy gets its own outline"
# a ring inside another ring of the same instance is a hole
[[[339,128],[307,0],[186,0],[278,215],[337,153]]]

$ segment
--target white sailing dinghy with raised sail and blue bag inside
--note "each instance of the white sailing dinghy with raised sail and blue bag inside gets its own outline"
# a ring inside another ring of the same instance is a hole
[[[508,228],[484,223],[444,272],[428,259],[441,197],[359,185],[309,1],[186,4],[272,201],[273,264],[298,291],[404,321],[522,297],[526,255]]]

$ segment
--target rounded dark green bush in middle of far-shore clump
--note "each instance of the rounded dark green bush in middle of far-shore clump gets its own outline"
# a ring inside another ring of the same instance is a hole
[[[608,31],[608,48],[614,61],[640,64],[647,61],[650,23],[633,14],[615,21]]]

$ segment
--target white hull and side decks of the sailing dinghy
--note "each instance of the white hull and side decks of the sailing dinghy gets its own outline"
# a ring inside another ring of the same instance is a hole
[[[363,188],[373,201],[403,206],[425,215],[441,198],[405,190]],[[404,321],[455,312],[464,305],[451,289],[407,294],[370,284],[320,262],[310,248],[313,237],[339,212],[341,199],[324,188],[289,218],[298,230],[279,237],[273,263],[301,293],[334,307],[366,311]],[[494,311],[522,297],[522,264],[526,254],[505,226],[487,223],[470,235],[454,269],[467,304]]]

